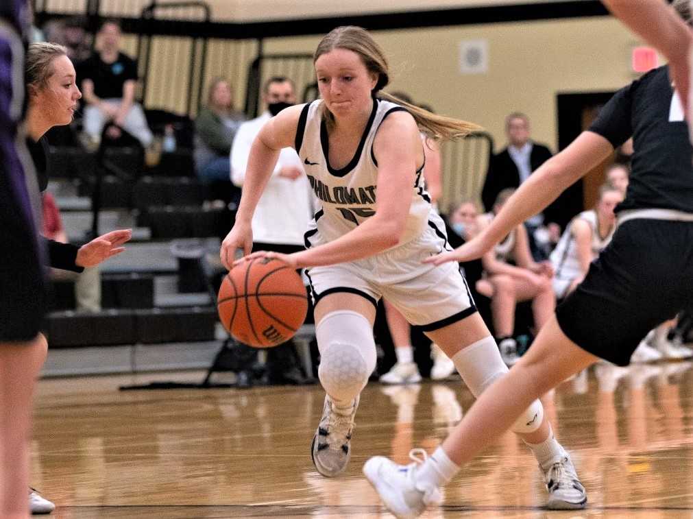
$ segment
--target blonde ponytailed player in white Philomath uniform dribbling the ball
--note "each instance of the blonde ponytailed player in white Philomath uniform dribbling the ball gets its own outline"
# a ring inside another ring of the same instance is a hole
[[[475,396],[507,367],[457,265],[423,263],[451,247],[423,188],[419,132],[453,139],[475,126],[392,102],[396,98],[381,91],[389,80],[387,60],[362,28],[333,30],[318,45],[314,62],[322,99],[283,110],[258,134],[236,223],[220,254],[230,268],[237,247],[250,252],[255,206],[279,150],[294,146],[322,202],[306,233],[306,250],[249,257],[306,267],[316,304],[319,378],[327,393],[311,454],[319,473],[332,477],[349,462],[360,392],[376,365],[373,322],[380,297],[439,344]],[[513,430],[528,443],[547,480],[557,465],[577,481],[538,400]],[[432,470],[448,474],[455,468],[444,453],[433,459]],[[579,484],[551,490],[550,507],[582,507],[586,501]]]

